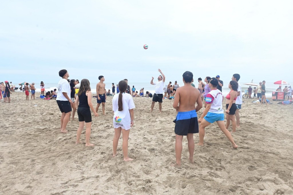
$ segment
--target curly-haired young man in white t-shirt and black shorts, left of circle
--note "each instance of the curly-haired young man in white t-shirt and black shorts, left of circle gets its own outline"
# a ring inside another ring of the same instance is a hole
[[[70,99],[70,85],[67,81],[69,73],[67,70],[63,69],[59,71],[59,76],[62,77],[62,79],[58,82],[56,102],[62,113],[60,131],[65,134],[67,133],[66,126],[71,115],[71,104],[73,104],[73,102]]]

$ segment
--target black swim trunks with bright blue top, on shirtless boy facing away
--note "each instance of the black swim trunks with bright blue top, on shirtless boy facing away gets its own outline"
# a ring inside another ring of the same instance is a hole
[[[195,110],[178,112],[175,122],[175,134],[187,136],[198,133],[197,113]]]

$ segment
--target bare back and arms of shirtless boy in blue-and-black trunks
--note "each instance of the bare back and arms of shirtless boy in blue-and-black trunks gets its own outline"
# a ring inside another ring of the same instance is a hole
[[[197,103],[197,105],[202,105],[199,90],[191,86],[190,83],[186,83],[184,86],[177,88],[174,104],[177,103],[178,105],[178,101],[178,112],[188,112],[190,110],[195,110],[195,103]]]

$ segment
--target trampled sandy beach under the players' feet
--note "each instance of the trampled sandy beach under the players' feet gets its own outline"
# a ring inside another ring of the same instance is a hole
[[[24,93],[12,93],[10,104],[0,104],[1,194],[293,194],[293,105],[243,101],[241,128],[232,134],[239,148],[232,149],[211,124],[205,146],[195,146],[195,164],[188,163],[183,138],[178,169],[170,166],[175,162],[173,100],[164,100],[159,114],[158,104],[149,113],[151,98],[134,98],[128,149],[134,160],[125,162],[122,138],[119,154],[112,157],[112,97],[106,100],[106,116],[100,106],[99,117],[93,117],[91,143],[96,146],[86,147],[75,145],[77,113],[62,134],[55,100],[25,101]],[[95,107],[96,98],[92,102]]]

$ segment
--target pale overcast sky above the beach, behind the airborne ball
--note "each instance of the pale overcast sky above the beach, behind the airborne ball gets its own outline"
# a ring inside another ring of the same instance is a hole
[[[0,80],[293,81],[293,1],[2,1]],[[149,48],[143,49],[147,44]],[[195,79],[195,80],[196,80]]]

